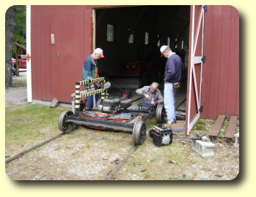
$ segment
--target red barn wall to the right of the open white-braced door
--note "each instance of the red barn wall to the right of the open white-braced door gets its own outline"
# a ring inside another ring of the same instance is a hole
[[[239,15],[231,6],[208,6],[205,15],[201,117],[239,115]]]

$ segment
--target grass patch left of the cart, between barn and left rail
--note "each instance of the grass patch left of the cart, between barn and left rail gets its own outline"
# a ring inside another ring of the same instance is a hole
[[[59,115],[64,107],[51,108],[39,104],[23,104],[5,108],[5,143],[28,144],[50,131],[59,130]]]

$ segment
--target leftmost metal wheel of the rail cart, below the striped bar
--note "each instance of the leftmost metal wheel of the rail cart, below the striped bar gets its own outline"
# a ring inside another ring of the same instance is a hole
[[[58,121],[59,130],[65,134],[70,133],[72,129],[75,127],[75,123],[66,122],[65,118],[68,117],[69,115],[74,115],[74,113],[69,110],[69,111],[62,112],[61,115],[59,116],[59,121]]]

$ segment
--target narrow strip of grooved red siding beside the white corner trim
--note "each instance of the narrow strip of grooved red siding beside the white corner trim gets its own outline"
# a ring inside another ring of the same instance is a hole
[[[52,7],[33,7],[31,9],[31,76],[32,76],[32,98],[50,100],[50,9]],[[43,16],[43,17],[42,17]],[[47,22],[48,21],[48,22]]]

